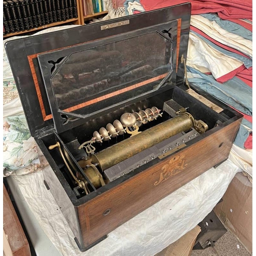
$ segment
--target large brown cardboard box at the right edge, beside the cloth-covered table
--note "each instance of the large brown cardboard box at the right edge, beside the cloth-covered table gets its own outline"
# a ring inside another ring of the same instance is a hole
[[[216,215],[252,253],[252,183],[243,173],[231,181],[223,202],[215,207]]]

